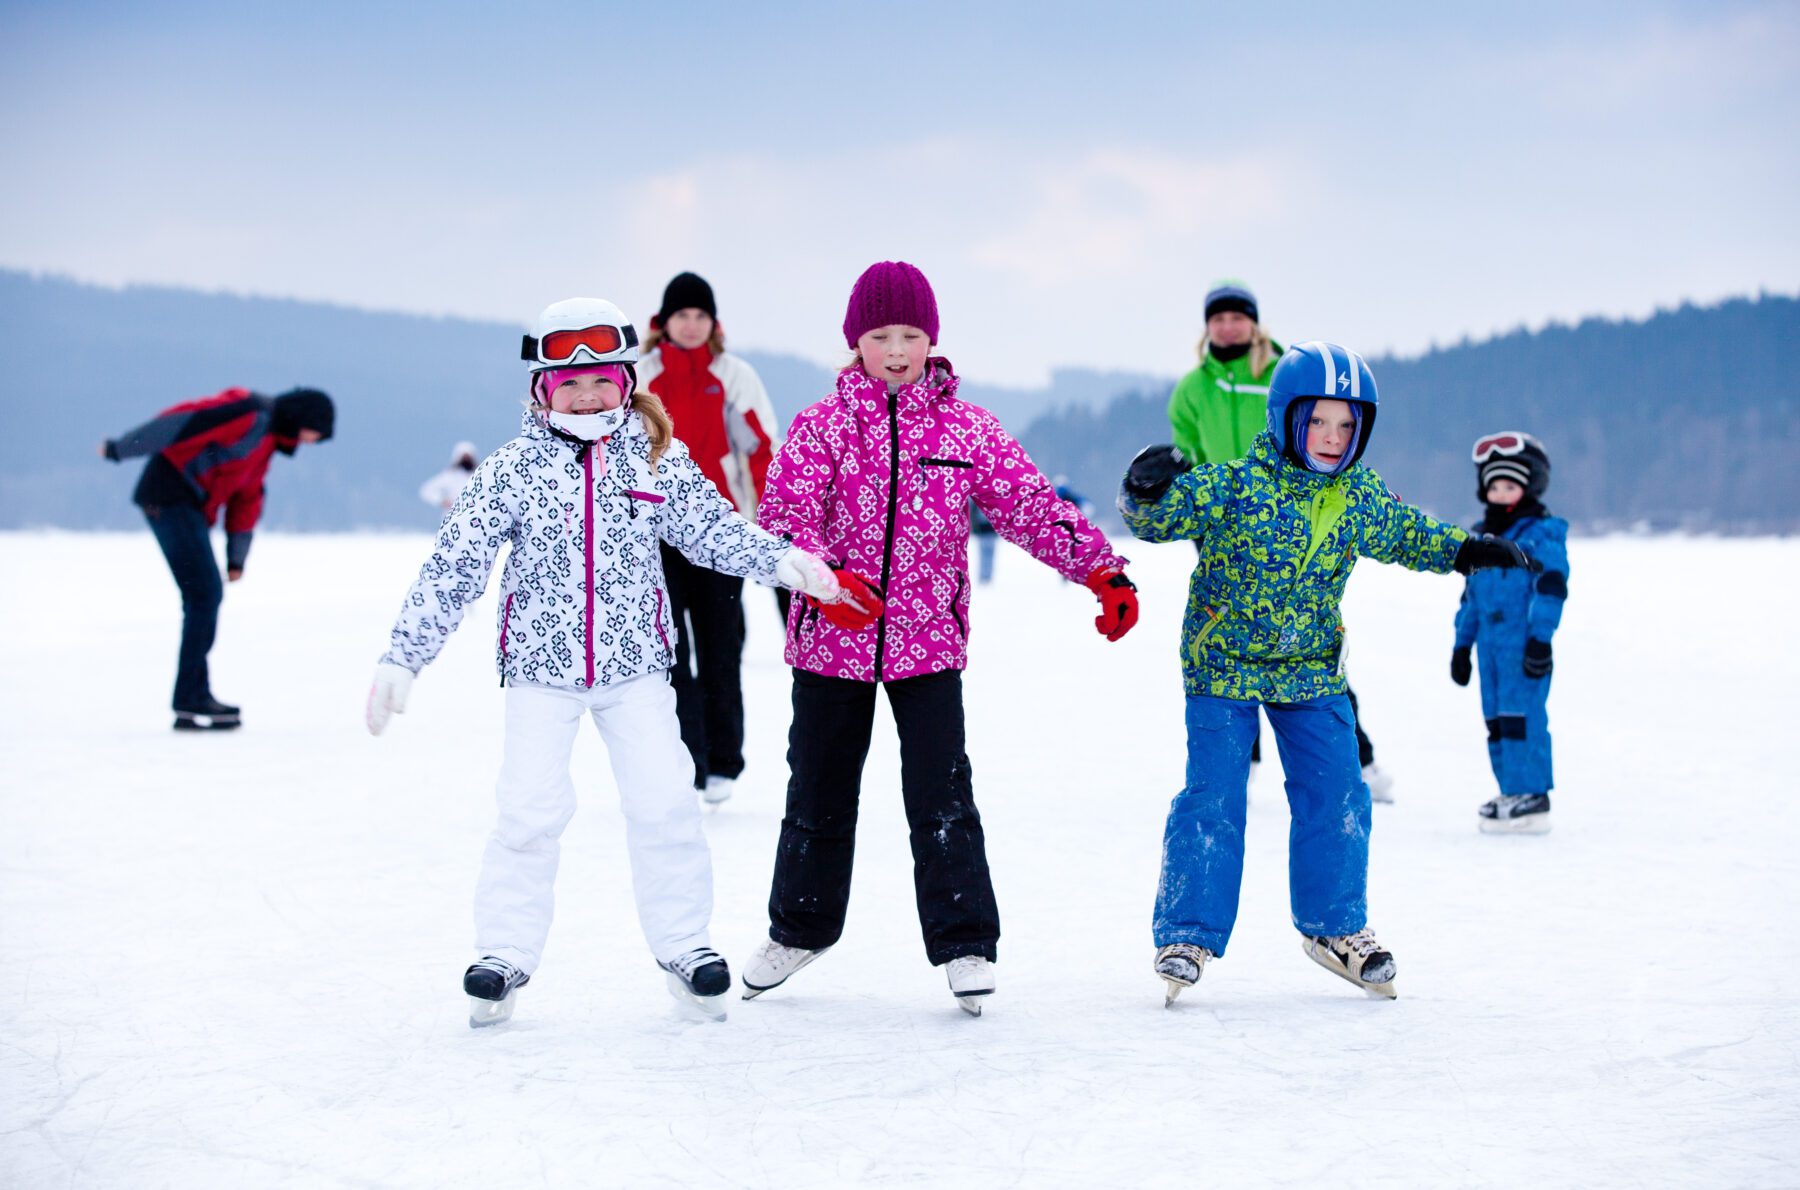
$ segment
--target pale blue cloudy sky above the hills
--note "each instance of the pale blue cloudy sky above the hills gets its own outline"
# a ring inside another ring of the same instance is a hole
[[[527,320],[707,275],[842,358],[1174,373],[1201,295],[1368,353],[1800,290],[1795,4],[0,2],[0,266]]]

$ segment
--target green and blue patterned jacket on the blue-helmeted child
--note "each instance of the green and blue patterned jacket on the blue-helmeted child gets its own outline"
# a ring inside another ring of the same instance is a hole
[[[1181,625],[1186,691],[1256,702],[1345,691],[1337,605],[1359,556],[1444,574],[1469,538],[1361,463],[1341,475],[1294,466],[1267,432],[1242,459],[1179,475],[1156,504],[1121,490],[1120,511],[1139,540],[1199,542]]]

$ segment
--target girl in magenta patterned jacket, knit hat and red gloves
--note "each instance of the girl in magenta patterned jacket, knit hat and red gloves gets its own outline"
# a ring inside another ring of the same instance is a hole
[[[938,302],[905,263],[871,265],[850,295],[844,342],[857,358],[812,405],[769,468],[760,522],[826,558],[878,616],[796,600],[787,816],[769,897],[769,942],[745,997],[783,983],[844,929],[862,762],[875,688],[900,733],[925,954],[979,1014],[994,990],[999,913],[963,751],[968,659],[968,513],[1100,598],[1107,639],[1138,621],[1125,558],[1057,497],[1024,448],[979,405],[958,400],[950,362],[931,355]]]

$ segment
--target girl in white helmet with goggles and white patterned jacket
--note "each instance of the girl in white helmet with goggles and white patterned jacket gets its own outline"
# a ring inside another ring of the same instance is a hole
[[[733,511],[655,396],[634,392],[637,331],[607,301],[571,299],[526,337],[520,434],[475,470],[394,621],[369,690],[369,731],[488,585],[500,545],[497,664],[506,691],[500,817],[475,889],[470,1024],[497,1024],[538,967],[560,837],[576,808],[569,753],[592,715],[625,810],[637,916],[670,992],[724,1017],[725,960],[709,945],[713,861],[668,681],[675,628],[659,542],[697,565],[837,598],[828,565]]]

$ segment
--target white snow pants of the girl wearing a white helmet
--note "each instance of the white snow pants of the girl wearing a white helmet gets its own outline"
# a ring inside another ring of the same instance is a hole
[[[592,715],[619,783],[637,920],[657,961],[709,945],[713,855],[680,742],[675,688],[646,673],[599,690],[509,686],[506,754],[495,790],[500,821],[475,886],[475,952],[533,972],[554,913],[562,832],[574,816],[569,754]]]

